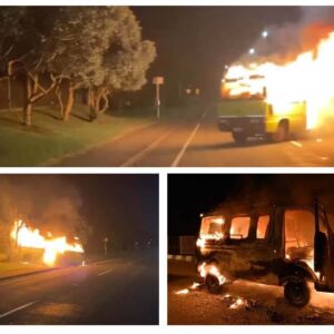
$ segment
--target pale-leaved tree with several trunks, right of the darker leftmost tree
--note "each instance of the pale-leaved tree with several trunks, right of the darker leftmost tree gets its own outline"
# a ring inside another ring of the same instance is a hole
[[[62,8],[48,57],[48,70],[60,75],[66,88],[57,89],[62,118],[69,118],[79,88],[88,89],[91,115],[97,118],[108,108],[110,92],[137,90],[146,82],[155,57],[154,43],[141,40],[140,26],[128,7]]]

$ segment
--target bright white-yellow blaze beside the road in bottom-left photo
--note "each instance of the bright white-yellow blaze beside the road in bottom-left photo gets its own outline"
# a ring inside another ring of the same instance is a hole
[[[14,222],[10,235],[18,246],[45,249],[43,263],[49,266],[52,266],[58,255],[65,252],[84,253],[80,243],[69,244],[66,236],[51,238],[50,233],[48,237],[43,237],[39,229],[31,229],[22,220]]]

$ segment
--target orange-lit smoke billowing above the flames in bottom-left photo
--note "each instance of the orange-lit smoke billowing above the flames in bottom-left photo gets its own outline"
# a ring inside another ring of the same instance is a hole
[[[82,235],[85,222],[80,210],[80,193],[53,175],[0,176],[0,224],[11,225],[21,217],[30,227],[42,234]]]

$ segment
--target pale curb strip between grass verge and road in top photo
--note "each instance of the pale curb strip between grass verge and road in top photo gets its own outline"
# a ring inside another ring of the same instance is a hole
[[[61,164],[61,161],[65,160],[65,159],[82,155],[82,154],[88,153],[89,150],[98,148],[99,146],[102,146],[102,145],[116,143],[116,141],[122,139],[124,137],[127,137],[128,135],[131,135],[131,134],[134,134],[136,131],[146,129],[146,128],[149,128],[149,127],[151,127],[151,126],[154,126],[156,124],[157,124],[156,121],[153,121],[151,124],[148,124],[148,125],[143,125],[143,126],[134,127],[131,129],[126,130],[125,132],[118,134],[112,139],[107,139],[107,140],[99,141],[97,144],[92,144],[92,145],[87,146],[87,147],[85,147],[85,148],[82,148],[80,150],[77,150],[77,151],[73,151],[73,153],[68,153],[68,154],[66,154],[66,155],[63,155],[63,156],[61,156],[59,158],[51,158],[50,160],[48,160],[46,163],[42,163],[42,164],[38,165],[37,167],[52,167],[52,166],[55,166],[57,164]],[[79,166],[79,167],[85,167],[85,166]]]

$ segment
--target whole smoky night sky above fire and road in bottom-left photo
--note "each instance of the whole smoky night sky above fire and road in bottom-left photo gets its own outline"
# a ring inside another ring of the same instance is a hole
[[[149,238],[157,246],[158,194],[157,175],[1,175],[0,224],[21,215],[32,228],[73,237],[85,220],[88,250],[105,237],[121,248]]]

